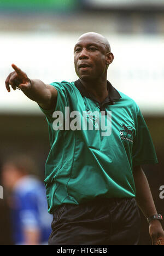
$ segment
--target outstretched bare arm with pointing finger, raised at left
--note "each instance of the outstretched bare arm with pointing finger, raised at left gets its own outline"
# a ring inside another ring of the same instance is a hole
[[[16,90],[17,87],[32,101],[36,101],[43,109],[54,108],[57,100],[57,90],[53,86],[44,84],[38,79],[30,80],[20,68],[14,64],[11,66],[14,72],[10,73],[5,80],[8,92],[10,92],[10,85],[13,90]]]

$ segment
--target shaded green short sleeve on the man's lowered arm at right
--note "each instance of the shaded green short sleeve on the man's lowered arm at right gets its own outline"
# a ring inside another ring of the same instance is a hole
[[[157,164],[157,156],[148,126],[137,106],[136,136],[133,143],[133,167],[144,164]]]

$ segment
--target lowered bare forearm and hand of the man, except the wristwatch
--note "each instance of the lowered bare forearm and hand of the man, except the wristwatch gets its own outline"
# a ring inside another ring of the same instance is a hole
[[[136,201],[140,210],[147,218],[157,214],[147,177],[140,166],[133,168],[133,177],[136,185]],[[157,241],[161,238],[164,239],[164,232],[159,220],[151,220],[149,234],[153,245],[157,245]]]

